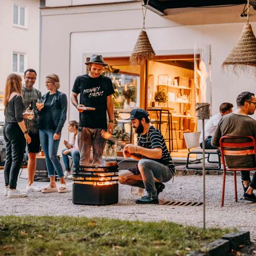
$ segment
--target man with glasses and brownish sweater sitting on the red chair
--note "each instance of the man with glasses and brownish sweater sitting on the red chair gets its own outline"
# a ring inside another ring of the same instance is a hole
[[[249,115],[253,115],[255,112],[255,94],[249,91],[241,92],[237,97],[237,106],[237,111],[220,119],[211,139],[212,146],[219,147],[219,139],[222,136],[251,136],[256,138],[256,120],[249,117]],[[225,160],[229,168],[251,168],[256,165],[254,155],[228,155],[225,157]],[[252,180],[250,179],[249,171],[241,172],[241,177],[244,188],[244,199],[256,202],[256,196],[253,193],[253,190],[256,189],[256,172]]]

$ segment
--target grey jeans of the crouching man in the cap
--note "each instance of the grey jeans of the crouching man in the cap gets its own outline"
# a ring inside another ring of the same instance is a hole
[[[145,188],[149,197],[157,195],[155,182],[168,182],[173,177],[168,166],[150,159],[139,160],[138,169],[140,172],[138,175],[129,170],[119,172],[119,183]]]

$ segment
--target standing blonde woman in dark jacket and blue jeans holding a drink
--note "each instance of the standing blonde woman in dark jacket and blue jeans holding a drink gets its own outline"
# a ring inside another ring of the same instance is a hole
[[[58,91],[60,88],[59,77],[56,74],[46,76],[46,88],[49,90],[42,97],[43,104],[37,103],[40,115],[39,136],[43,151],[46,155],[46,167],[50,184],[42,189],[43,193],[68,192],[62,166],[57,157],[60,143],[61,130],[64,126],[67,113],[67,96]],[[60,187],[55,183],[55,172],[60,179]]]

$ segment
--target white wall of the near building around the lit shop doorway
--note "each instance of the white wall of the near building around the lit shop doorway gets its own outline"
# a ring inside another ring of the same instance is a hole
[[[209,16],[209,8],[205,10],[208,16],[199,19],[191,11],[185,14],[186,19],[178,17],[180,23],[172,20],[172,15],[163,17],[147,11],[146,31],[157,55],[192,54],[195,44],[211,44],[213,114],[218,112],[222,102],[229,101],[236,105],[239,92],[256,92],[254,76],[241,74],[238,77],[221,70],[221,63],[236,43],[244,25],[244,20],[239,19],[241,8],[228,9],[226,19],[221,12],[212,12]],[[142,27],[140,3],[44,9],[42,15],[41,89],[44,90],[44,77],[55,72],[61,79],[60,90],[68,97],[75,77],[83,73],[85,56],[92,53],[130,55]],[[226,23],[212,24],[214,17],[216,23],[219,20],[223,22],[223,19]],[[236,23],[228,23],[231,18]],[[199,20],[198,25],[194,25],[195,19]],[[255,21],[255,16],[251,20]],[[186,25],[183,25],[184,22]],[[256,23],[251,24],[256,29]],[[77,116],[71,106],[68,119],[77,119]],[[68,136],[66,125],[63,135]]]

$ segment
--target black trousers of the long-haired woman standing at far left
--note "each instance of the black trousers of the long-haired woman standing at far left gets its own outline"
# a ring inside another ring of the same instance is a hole
[[[18,173],[26,148],[26,139],[18,123],[6,123],[3,127],[3,135],[6,142],[5,185],[16,189]]]

